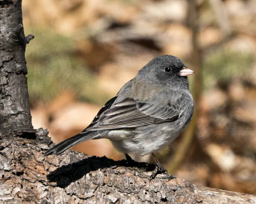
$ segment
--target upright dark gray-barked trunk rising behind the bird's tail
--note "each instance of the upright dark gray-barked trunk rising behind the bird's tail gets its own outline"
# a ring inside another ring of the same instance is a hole
[[[21,0],[0,1],[0,136],[33,133],[25,76],[28,40],[23,31]]]

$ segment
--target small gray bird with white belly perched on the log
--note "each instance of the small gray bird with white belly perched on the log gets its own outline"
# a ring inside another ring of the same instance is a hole
[[[45,155],[60,155],[81,142],[107,138],[128,161],[133,161],[131,153],[151,154],[156,167],[150,179],[167,172],[155,153],[177,138],[192,119],[194,101],[187,76],[193,73],[175,56],[155,57],[99,110],[87,128]]]

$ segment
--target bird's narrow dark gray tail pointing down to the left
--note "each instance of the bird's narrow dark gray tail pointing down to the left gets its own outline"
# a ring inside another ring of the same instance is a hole
[[[77,135],[74,135],[71,138],[68,138],[67,140],[62,141],[59,144],[56,144],[51,149],[48,149],[44,153],[44,155],[46,155],[46,156],[52,155],[52,154],[60,155],[61,153],[65,152],[67,149],[69,149],[70,147],[80,144],[81,142],[96,138],[97,136],[99,136],[97,131],[79,133]]]

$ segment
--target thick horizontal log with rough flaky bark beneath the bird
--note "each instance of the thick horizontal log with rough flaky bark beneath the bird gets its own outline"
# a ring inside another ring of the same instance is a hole
[[[0,140],[0,203],[256,203],[254,195],[195,186],[168,175],[150,182],[153,164],[131,165],[71,150],[45,157],[52,146],[47,133],[38,129],[34,140]]]

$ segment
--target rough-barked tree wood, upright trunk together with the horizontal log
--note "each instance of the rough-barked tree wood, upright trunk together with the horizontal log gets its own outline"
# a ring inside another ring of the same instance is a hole
[[[21,0],[0,0],[0,203],[256,203],[256,196],[199,187],[154,165],[79,152],[49,157],[48,131],[32,128]],[[32,137],[34,135],[34,137]],[[14,137],[15,136],[15,137]]]

